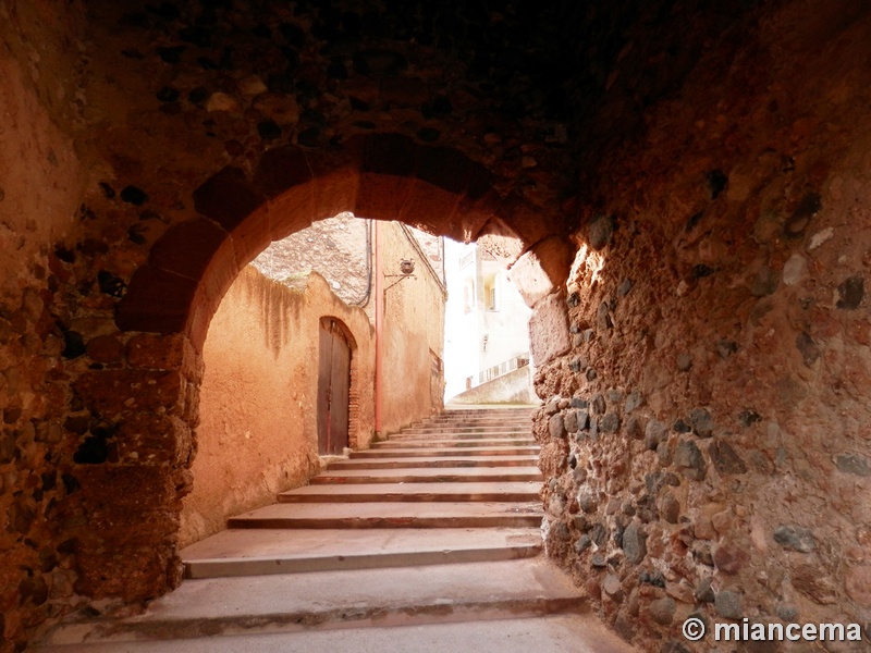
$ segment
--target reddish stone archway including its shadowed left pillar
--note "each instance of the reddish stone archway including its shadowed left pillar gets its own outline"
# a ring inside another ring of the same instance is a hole
[[[554,247],[551,230],[560,229],[560,221],[549,229],[531,219],[525,200],[501,198],[489,171],[459,151],[395,134],[352,138],[334,151],[273,148],[250,175],[234,167],[214,173],[193,200],[197,217],[152,245],[118,304],[124,369],[87,370],[74,381],[82,406],[107,415],[125,441],[112,466],[76,470],[77,502],[99,506],[98,520],[72,529],[79,588],[89,596],[142,601],[180,581],[176,533],[192,483],[203,344],[224,293],[270,242],[353,211],[457,238],[490,238],[504,259],[523,255],[522,267],[540,270],[541,252]],[[567,249],[563,244],[561,251]],[[535,278],[533,301],[565,279],[568,256],[559,260]],[[564,309],[561,315],[565,325]],[[100,498],[116,491],[131,498]]]

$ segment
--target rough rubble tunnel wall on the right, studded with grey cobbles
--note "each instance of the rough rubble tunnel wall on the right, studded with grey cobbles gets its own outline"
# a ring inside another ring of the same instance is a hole
[[[715,650],[691,615],[868,636],[871,21],[845,11],[783,10],[652,107],[548,307],[547,546],[645,650]]]

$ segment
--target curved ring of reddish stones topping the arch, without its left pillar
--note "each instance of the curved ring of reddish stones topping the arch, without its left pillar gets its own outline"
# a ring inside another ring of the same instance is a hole
[[[118,307],[122,331],[184,333],[199,347],[243,267],[269,243],[342,211],[455,239],[498,235],[516,241],[514,256],[541,236],[528,222],[515,224],[515,212],[529,209],[500,198],[483,165],[398,134],[354,137],[340,152],[277,147],[254,168],[248,178],[226,167],[193,192],[197,217],[168,229],[134,272]],[[554,280],[567,271],[568,260],[561,260],[548,271]]]

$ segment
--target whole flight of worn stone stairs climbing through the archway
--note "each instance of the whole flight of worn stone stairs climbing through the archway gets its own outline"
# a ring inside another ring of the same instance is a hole
[[[629,651],[540,555],[537,456],[528,408],[446,411],[185,549],[144,614],[36,650]]]

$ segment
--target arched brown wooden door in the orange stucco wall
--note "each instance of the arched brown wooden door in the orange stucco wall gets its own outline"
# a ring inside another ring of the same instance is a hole
[[[347,446],[351,346],[342,329],[330,318],[320,321],[318,372],[318,451],[341,455]]]

